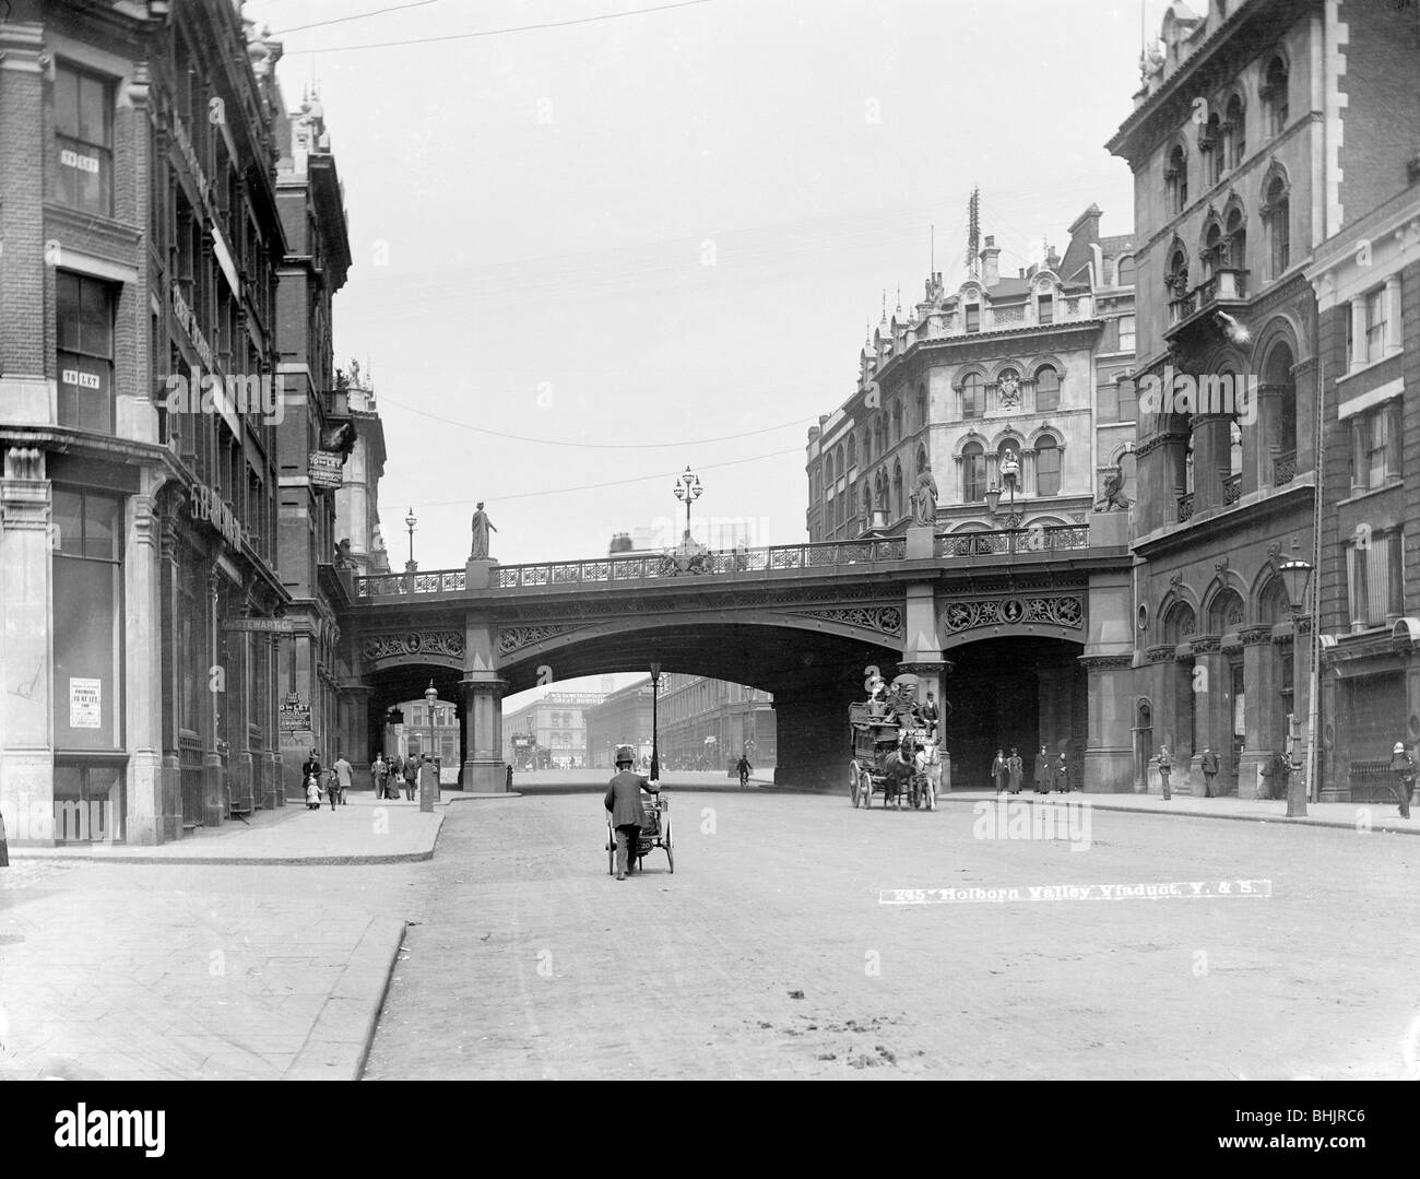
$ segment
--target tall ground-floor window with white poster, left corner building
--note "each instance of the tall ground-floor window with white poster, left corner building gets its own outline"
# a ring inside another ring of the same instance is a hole
[[[54,744],[122,747],[122,500],[54,489]]]

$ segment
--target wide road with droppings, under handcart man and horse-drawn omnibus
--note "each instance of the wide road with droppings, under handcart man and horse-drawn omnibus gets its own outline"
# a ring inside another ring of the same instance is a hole
[[[616,882],[598,777],[450,808],[366,1078],[1409,1075],[1413,837],[1095,813],[1075,851],[667,776],[676,872]],[[1271,896],[880,903],[1244,878]]]

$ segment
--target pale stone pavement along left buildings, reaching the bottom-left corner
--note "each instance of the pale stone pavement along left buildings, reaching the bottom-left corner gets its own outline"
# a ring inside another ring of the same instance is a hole
[[[156,848],[11,848],[0,1080],[356,1080],[423,905],[416,861],[449,805],[510,797],[446,791],[422,814],[365,794]]]

